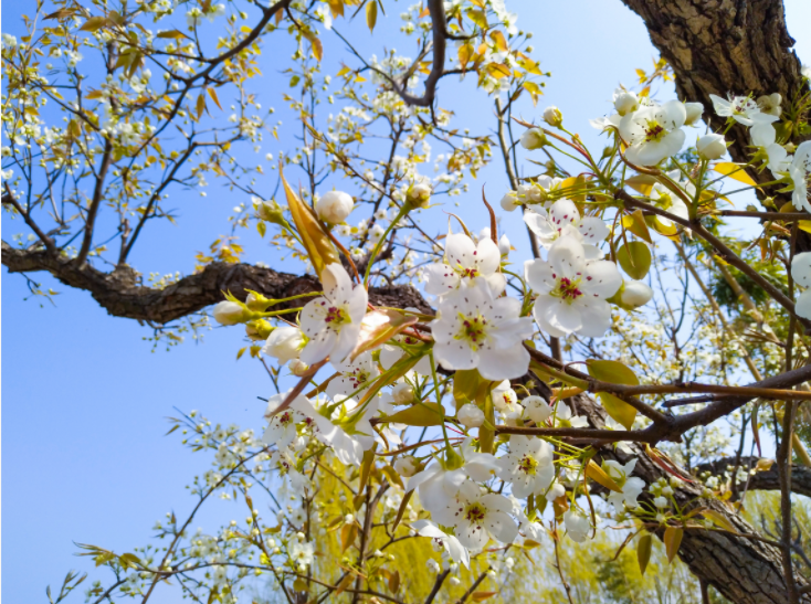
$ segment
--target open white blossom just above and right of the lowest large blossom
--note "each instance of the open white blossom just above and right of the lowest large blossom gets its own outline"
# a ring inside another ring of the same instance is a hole
[[[513,483],[513,495],[540,495],[555,478],[552,447],[534,436],[510,436],[509,453],[498,458],[502,480]]]

